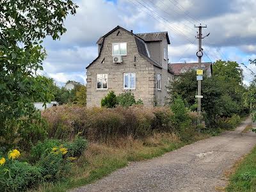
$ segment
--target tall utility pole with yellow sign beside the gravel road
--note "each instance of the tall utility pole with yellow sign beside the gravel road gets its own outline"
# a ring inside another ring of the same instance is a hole
[[[200,26],[195,26],[195,28],[199,29],[199,33],[197,34],[196,38],[198,38],[198,51],[196,52],[196,56],[198,57],[198,70],[202,70],[202,56],[203,56],[203,49],[202,49],[202,39],[205,38],[202,37],[202,28],[207,28],[207,26],[202,26],[200,24]],[[210,33],[206,36],[209,36]],[[196,71],[196,75],[198,75],[199,72]],[[200,76],[203,74],[200,74]],[[201,114],[201,99],[202,99],[202,95],[201,95],[201,89],[202,89],[202,77],[197,78],[197,113],[198,115]],[[199,122],[199,120],[198,120]]]

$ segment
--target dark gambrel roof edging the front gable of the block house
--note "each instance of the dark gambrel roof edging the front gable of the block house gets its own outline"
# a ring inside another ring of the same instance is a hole
[[[101,50],[102,50],[102,47],[103,47],[103,44],[104,44],[104,38],[106,36],[108,36],[109,34],[113,33],[114,31],[116,31],[116,29],[123,29],[124,31],[126,31],[127,33],[133,35],[135,37],[135,41],[136,41],[136,44],[137,44],[137,47],[138,47],[138,52],[140,53],[140,55],[145,58],[145,60],[147,60],[148,62],[152,63],[152,65],[156,66],[156,67],[159,67],[159,68],[162,68],[161,65],[159,65],[158,63],[156,63],[156,61],[152,60],[149,55],[148,55],[148,52],[147,52],[147,45],[145,44],[145,40],[143,40],[143,38],[141,38],[140,36],[137,36],[135,35],[134,33],[131,33],[131,31],[128,31],[120,26],[116,26],[116,28],[112,29],[111,31],[109,31],[108,33],[106,33],[106,35],[104,36],[101,36],[99,38],[99,40],[97,41],[97,44],[101,45],[100,46],[100,51],[99,51],[99,55],[97,56],[97,58],[95,58],[95,60],[92,61],[92,63],[94,61],[96,61],[99,57],[100,57],[100,53],[101,53]],[[167,32],[166,32],[167,33]],[[86,69],[88,67],[90,67],[90,65],[92,65],[92,63],[90,63]]]

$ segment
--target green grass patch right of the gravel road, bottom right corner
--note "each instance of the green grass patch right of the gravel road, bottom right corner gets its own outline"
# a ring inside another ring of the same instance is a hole
[[[228,192],[256,191],[256,147],[237,166],[226,190]]]

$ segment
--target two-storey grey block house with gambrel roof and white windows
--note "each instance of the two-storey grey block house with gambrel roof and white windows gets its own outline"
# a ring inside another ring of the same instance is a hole
[[[130,91],[146,106],[163,105],[166,86],[173,74],[168,70],[167,32],[138,33],[117,26],[99,38],[98,56],[87,69],[87,106],[114,91]]]

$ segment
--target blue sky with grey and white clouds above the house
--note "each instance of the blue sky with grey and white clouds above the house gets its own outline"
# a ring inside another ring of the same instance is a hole
[[[97,40],[116,26],[134,33],[168,31],[170,63],[196,62],[195,25],[203,28],[202,61],[230,60],[244,63],[256,58],[255,0],[76,0],[76,15],[65,20],[67,32],[60,40],[47,37],[44,75],[59,86],[68,80],[86,84],[86,67],[97,57]],[[244,83],[252,81],[241,65]]]

